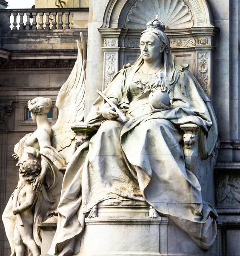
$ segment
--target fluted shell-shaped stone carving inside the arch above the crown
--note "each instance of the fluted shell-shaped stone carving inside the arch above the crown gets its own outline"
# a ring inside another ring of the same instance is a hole
[[[155,15],[158,15],[166,28],[193,26],[191,10],[183,0],[137,0],[127,15],[126,28],[142,29]]]

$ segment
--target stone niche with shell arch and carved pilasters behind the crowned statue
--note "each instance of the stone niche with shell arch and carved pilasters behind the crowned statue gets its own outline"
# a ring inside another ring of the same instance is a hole
[[[133,64],[140,55],[140,33],[156,15],[166,26],[171,52],[177,64],[189,64],[191,73],[211,97],[214,27],[206,0],[111,0],[103,26],[103,88],[123,64]]]

